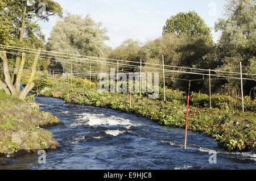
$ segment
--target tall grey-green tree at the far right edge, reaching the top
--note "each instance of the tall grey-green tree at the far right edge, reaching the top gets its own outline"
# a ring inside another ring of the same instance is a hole
[[[225,18],[218,19],[215,30],[221,31],[218,41],[218,58],[222,61],[221,70],[255,74],[256,61],[256,5],[254,0],[229,0],[225,5]],[[232,74],[230,74],[232,75]],[[252,77],[247,75],[244,77]],[[229,79],[230,87],[240,92],[240,81]],[[256,90],[255,81],[245,81],[244,92],[249,95]]]

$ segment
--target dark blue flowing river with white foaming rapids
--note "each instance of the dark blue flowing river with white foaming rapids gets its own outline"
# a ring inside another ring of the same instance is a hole
[[[130,113],[64,104],[61,99],[38,97],[40,111],[57,116],[64,125],[49,128],[60,148],[12,158],[0,169],[256,169],[256,152],[229,153],[213,138],[184,129],[163,127]],[[217,163],[209,163],[210,150]]]

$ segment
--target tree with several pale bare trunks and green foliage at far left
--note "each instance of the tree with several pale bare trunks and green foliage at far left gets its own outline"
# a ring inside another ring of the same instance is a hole
[[[45,6],[44,6],[45,5]],[[42,13],[43,10],[45,13]],[[0,2],[0,44],[14,45],[23,48],[44,48],[44,35],[40,31],[40,26],[36,24],[39,20],[48,21],[51,15],[62,16],[62,9],[59,3],[52,0],[2,0]],[[19,53],[15,50],[9,50],[12,53]],[[39,54],[36,54],[34,61],[27,57],[25,64],[24,56],[20,60],[19,56],[13,54],[1,54],[0,64],[5,69],[3,71],[5,83],[0,81],[0,86],[5,90],[6,94],[18,96],[20,99],[26,98],[27,93],[32,89],[34,84],[34,72],[39,62]],[[39,63],[40,64],[40,63]],[[42,63],[41,63],[42,64]],[[23,68],[31,68],[31,82],[19,92],[20,79]],[[8,69],[15,68],[11,76]],[[18,73],[18,70],[19,73]],[[14,84],[16,83],[16,87]]]

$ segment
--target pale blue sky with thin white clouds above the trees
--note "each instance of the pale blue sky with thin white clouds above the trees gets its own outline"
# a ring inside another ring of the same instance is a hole
[[[118,47],[126,39],[146,43],[162,35],[162,28],[171,15],[178,12],[195,10],[212,28],[213,40],[219,33],[214,32],[214,23],[224,12],[225,0],[56,0],[67,12],[90,16],[102,27],[108,29],[110,40],[105,44]],[[40,22],[43,33],[48,39],[57,17],[49,22]]]

